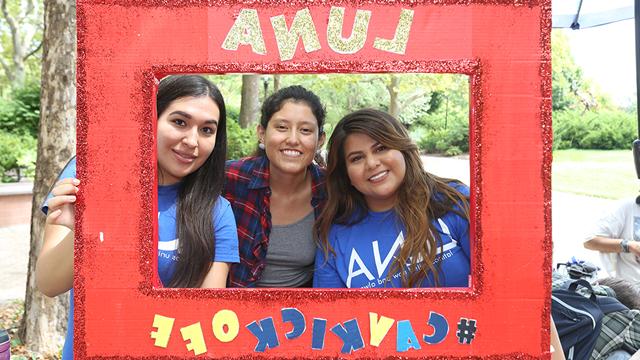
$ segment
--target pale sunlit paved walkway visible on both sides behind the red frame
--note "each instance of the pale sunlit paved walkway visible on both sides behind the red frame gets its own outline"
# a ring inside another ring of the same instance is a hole
[[[468,159],[424,157],[423,160],[428,171],[469,184]],[[599,265],[597,253],[582,247],[581,234],[615,202],[555,191],[552,202],[553,264],[576,256]],[[0,228],[0,303],[24,298],[29,261],[29,231],[28,224]]]

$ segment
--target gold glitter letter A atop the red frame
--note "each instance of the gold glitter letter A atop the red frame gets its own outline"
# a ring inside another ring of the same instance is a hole
[[[260,19],[258,19],[258,10],[242,9],[240,11],[236,22],[233,23],[222,43],[222,48],[235,51],[238,50],[239,45],[251,45],[251,50],[259,55],[267,53],[260,28]]]

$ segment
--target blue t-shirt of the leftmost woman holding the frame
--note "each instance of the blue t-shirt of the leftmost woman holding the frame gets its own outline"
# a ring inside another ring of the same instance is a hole
[[[69,161],[62,170],[58,180],[76,176],[76,159]],[[158,186],[158,275],[163,285],[167,285],[177,262],[178,239],[176,238],[176,200],[180,183],[167,186]],[[46,214],[49,210],[47,201],[51,198],[49,193],[42,205],[42,211]],[[211,261],[234,263],[239,262],[238,234],[236,221],[231,210],[231,205],[223,197],[218,197],[213,208],[213,228],[216,241],[215,258]],[[67,324],[67,336],[62,349],[62,359],[73,359],[73,289],[69,304],[69,322]]]

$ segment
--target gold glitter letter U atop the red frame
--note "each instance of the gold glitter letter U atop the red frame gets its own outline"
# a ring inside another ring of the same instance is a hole
[[[329,13],[329,25],[327,26],[327,42],[329,47],[338,54],[355,54],[364,47],[367,40],[367,28],[371,11],[356,10],[356,18],[353,21],[351,36],[345,39],[342,37],[342,27],[344,26],[344,8],[331,7]]]

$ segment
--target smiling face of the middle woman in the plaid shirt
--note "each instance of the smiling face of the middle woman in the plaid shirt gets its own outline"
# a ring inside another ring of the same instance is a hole
[[[293,101],[286,101],[271,116],[266,129],[258,125],[258,136],[271,172],[287,175],[304,173],[324,141],[311,108],[305,102]]]

